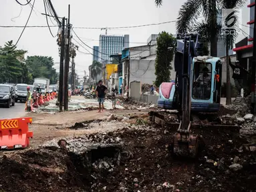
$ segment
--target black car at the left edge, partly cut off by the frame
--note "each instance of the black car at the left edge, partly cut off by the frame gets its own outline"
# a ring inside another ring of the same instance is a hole
[[[15,89],[13,85],[0,84],[0,105],[7,108],[15,105]]]

